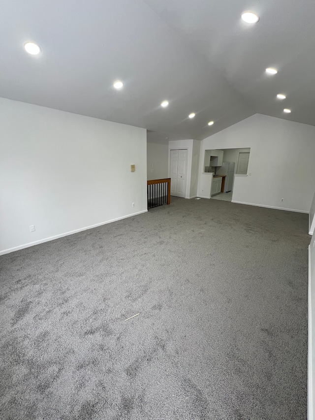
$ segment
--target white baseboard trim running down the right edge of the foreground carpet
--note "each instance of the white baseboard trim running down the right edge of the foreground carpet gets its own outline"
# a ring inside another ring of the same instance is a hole
[[[313,395],[313,384],[312,384],[312,372],[313,372],[313,365],[312,365],[312,279],[311,279],[311,245],[309,245],[309,290],[308,290],[308,381],[307,381],[307,399],[308,399],[308,410],[307,410],[307,418],[308,420],[314,420],[314,398]]]

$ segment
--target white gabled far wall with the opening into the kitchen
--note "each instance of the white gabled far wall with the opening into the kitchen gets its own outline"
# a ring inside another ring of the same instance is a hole
[[[314,194],[315,127],[255,114],[201,141],[206,149],[250,147],[248,176],[234,179],[232,201],[308,213]],[[199,175],[202,173],[199,163]],[[284,198],[284,201],[281,201]]]

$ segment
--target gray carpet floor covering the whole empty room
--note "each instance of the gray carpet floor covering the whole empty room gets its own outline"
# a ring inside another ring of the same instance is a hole
[[[306,419],[307,229],[172,197],[0,257],[0,418]]]

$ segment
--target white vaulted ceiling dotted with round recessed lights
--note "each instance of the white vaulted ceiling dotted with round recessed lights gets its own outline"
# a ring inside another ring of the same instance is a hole
[[[2,0],[0,96],[157,139],[202,139],[257,112],[315,125],[314,18],[314,0]]]

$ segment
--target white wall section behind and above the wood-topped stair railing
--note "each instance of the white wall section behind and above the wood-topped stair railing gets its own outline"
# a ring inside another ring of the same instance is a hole
[[[168,178],[168,142],[147,142],[147,179]]]

